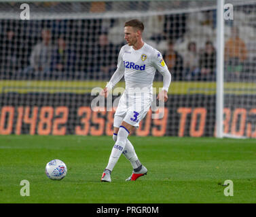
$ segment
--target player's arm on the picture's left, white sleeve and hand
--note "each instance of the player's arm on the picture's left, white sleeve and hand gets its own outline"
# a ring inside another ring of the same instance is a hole
[[[109,94],[109,90],[111,90],[124,76],[123,50],[124,47],[121,48],[118,56],[117,69],[115,73],[113,73],[109,83],[107,83],[106,87],[100,92],[101,96],[107,97],[107,95]]]

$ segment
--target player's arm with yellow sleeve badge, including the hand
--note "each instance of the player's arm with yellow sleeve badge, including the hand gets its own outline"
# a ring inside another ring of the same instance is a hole
[[[159,92],[157,98],[161,101],[166,102],[168,100],[168,89],[170,87],[170,81],[172,79],[172,76],[160,52],[156,52],[156,54],[153,54],[152,60],[153,60],[154,66],[156,66],[156,69],[163,76],[163,87],[162,87],[162,90]]]

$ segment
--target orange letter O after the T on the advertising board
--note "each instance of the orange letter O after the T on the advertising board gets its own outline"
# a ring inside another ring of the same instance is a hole
[[[207,111],[205,108],[194,109],[191,117],[190,136],[200,137],[204,134],[206,113]],[[198,116],[200,116],[200,122],[199,122],[198,130],[196,130],[196,123],[198,121]]]

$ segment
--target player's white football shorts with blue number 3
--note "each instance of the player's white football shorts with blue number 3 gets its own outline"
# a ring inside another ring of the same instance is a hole
[[[139,122],[147,115],[152,101],[153,95],[150,93],[124,92],[115,111],[113,126],[120,127],[122,121],[126,121],[134,127],[139,127]]]

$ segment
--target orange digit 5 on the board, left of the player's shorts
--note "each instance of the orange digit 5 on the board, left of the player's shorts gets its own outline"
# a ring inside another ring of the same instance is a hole
[[[99,107],[95,107],[95,109],[98,108],[98,111],[92,112],[92,123],[98,124],[98,129],[94,126],[90,129],[90,134],[92,136],[101,136],[104,133],[104,127],[105,127],[105,119],[103,117],[98,117],[98,114],[105,115],[106,111],[100,111]]]

